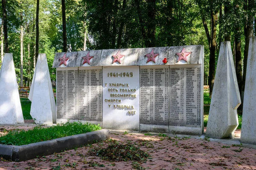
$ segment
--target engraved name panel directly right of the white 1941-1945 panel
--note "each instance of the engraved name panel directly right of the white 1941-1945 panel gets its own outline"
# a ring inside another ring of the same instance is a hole
[[[140,131],[169,132],[169,66],[140,66]]]

